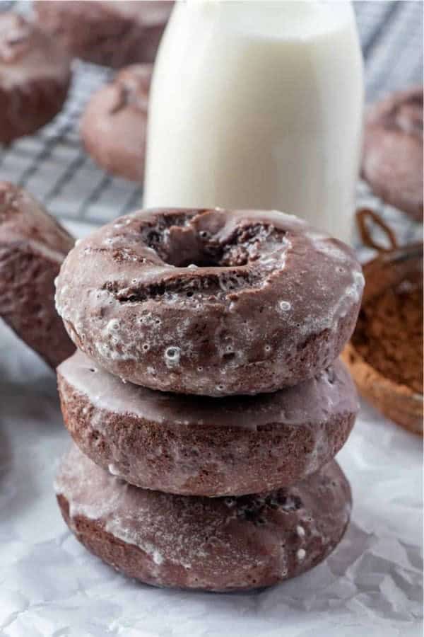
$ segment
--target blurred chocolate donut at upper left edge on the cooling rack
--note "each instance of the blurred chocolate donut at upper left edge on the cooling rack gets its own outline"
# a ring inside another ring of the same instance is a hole
[[[50,35],[16,13],[0,13],[0,144],[52,120],[70,80],[69,56]]]

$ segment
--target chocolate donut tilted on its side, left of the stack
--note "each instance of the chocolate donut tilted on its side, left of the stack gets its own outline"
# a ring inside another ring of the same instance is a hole
[[[72,246],[33,197],[0,182],[0,317],[52,367],[75,349],[54,307],[54,279]]]

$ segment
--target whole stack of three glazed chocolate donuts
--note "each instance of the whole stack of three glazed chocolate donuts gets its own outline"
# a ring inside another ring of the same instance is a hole
[[[56,480],[78,540],[145,583],[272,585],[322,561],[351,492],[358,410],[337,360],[353,251],[281,212],[150,210],[77,242],[56,303],[76,443]]]

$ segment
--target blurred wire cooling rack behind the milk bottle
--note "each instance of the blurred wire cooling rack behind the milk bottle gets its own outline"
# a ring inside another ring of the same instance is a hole
[[[420,0],[354,2],[365,57],[367,101],[423,79],[423,4]],[[0,11],[30,13],[30,1],[0,0]],[[112,78],[105,67],[74,62],[63,110],[38,134],[0,149],[0,179],[18,183],[57,217],[102,224],[142,205],[142,188],[113,178],[81,147],[78,122],[91,94]],[[420,235],[419,226],[358,186],[358,205],[380,210],[401,241]]]

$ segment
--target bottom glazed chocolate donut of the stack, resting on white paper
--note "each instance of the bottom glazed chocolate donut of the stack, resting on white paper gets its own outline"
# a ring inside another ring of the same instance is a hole
[[[351,511],[335,461],[290,488],[194,498],[130,486],[73,447],[55,488],[76,538],[117,570],[156,586],[215,591],[309,570],[341,540]]]

